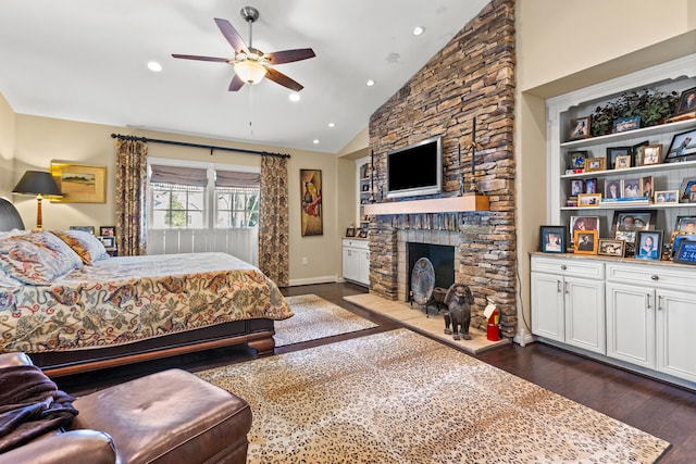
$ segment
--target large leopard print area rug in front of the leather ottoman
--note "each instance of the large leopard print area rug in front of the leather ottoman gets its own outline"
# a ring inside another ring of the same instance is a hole
[[[669,443],[408,329],[204,371],[249,463],[652,463]]]

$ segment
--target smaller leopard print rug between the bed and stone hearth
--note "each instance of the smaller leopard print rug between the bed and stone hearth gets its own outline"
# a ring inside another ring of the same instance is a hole
[[[295,315],[275,322],[276,347],[376,327],[376,324],[315,294],[285,297]]]

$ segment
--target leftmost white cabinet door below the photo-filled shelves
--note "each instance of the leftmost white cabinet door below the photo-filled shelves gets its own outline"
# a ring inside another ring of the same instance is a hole
[[[532,273],[532,334],[564,341],[563,279]]]

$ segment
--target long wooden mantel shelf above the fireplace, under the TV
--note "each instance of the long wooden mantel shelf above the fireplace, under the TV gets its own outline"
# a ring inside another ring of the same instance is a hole
[[[461,197],[432,198],[427,200],[391,201],[363,205],[364,214],[378,216],[387,214],[456,213],[467,211],[488,211],[488,197],[464,193]]]

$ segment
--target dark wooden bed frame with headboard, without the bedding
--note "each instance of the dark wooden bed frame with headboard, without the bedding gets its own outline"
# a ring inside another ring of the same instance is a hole
[[[24,229],[24,222],[14,205],[0,198],[0,230],[13,228]],[[258,318],[224,323],[113,347],[27,354],[32,356],[32,362],[41,367],[49,377],[62,377],[243,343],[257,350],[258,355],[273,354],[274,335],[273,319]]]

